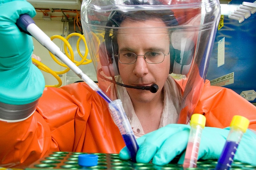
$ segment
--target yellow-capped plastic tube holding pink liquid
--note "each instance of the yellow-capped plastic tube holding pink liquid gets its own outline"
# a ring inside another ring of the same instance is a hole
[[[195,168],[197,166],[198,149],[202,130],[205,127],[206,118],[202,114],[192,114],[190,120],[190,132],[185,153],[183,168]]]

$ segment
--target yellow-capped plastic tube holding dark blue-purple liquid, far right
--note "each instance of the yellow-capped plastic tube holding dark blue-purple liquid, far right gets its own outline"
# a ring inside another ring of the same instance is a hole
[[[235,156],[238,144],[249,126],[249,120],[243,116],[235,115],[230,123],[230,132],[215,167],[216,170],[229,170]]]

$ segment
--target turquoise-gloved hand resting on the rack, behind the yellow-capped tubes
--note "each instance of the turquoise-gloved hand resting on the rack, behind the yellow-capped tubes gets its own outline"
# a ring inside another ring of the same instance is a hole
[[[178,163],[183,164],[185,156],[183,151],[187,147],[189,130],[189,125],[169,124],[138,138],[137,142],[140,148],[136,155],[136,161],[148,163],[152,159],[152,163],[164,165],[182,153]],[[201,136],[198,159],[218,159],[228,133],[229,128],[205,127]],[[247,130],[238,145],[234,159],[254,164],[256,160],[255,143],[256,134]],[[119,156],[121,159],[130,159],[129,150],[124,147]]]

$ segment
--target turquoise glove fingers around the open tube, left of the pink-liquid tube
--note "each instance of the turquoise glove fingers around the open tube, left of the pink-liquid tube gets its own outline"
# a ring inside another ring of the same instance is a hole
[[[187,147],[190,126],[185,124],[168,124],[137,139],[139,150],[136,155],[138,163],[164,165],[169,163]],[[119,156],[130,159],[129,150],[124,147]]]

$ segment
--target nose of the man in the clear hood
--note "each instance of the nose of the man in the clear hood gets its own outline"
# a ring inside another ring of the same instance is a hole
[[[133,73],[138,77],[148,73],[148,63],[145,61],[144,55],[138,55],[137,61],[134,64]]]

